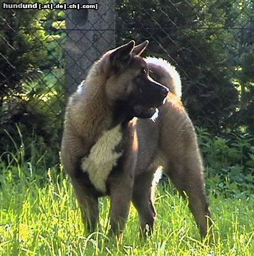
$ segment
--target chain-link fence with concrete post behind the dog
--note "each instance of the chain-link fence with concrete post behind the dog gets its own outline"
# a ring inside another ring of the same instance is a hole
[[[1,151],[22,134],[57,152],[67,97],[101,54],[132,39],[148,39],[145,55],[176,66],[195,125],[214,134],[254,131],[253,1],[50,3],[1,3]]]

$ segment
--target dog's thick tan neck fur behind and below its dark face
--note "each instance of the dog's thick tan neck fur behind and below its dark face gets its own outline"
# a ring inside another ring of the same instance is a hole
[[[75,123],[77,133],[91,143],[96,141],[103,131],[120,124],[127,125],[134,117],[128,113],[124,104],[116,102],[113,106],[108,105],[105,92],[106,81],[107,77],[98,72],[96,65],[71,97],[73,104],[70,104],[72,105],[70,119]]]

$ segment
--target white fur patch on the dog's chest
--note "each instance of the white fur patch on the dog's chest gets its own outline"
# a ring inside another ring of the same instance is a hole
[[[120,125],[109,131],[104,131],[92,146],[90,154],[82,159],[82,170],[88,172],[91,183],[103,193],[106,192],[107,177],[122,155],[122,152],[115,151],[115,147],[121,142],[121,139]]]

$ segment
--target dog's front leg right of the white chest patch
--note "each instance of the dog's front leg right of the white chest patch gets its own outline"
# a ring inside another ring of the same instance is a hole
[[[137,164],[137,135],[133,122],[128,123],[122,139],[124,151],[107,180],[111,197],[110,224],[111,234],[118,235],[124,231],[132,200],[134,171]]]

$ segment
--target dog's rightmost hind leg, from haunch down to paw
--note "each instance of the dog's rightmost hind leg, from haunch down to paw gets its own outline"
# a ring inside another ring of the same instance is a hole
[[[163,114],[159,149],[164,159],[164,172],[181,195],[187,195],[201,237],[205,237],[210,230],[211,241],[211,214],[205,195],[204,167],[194,126],[181,106],[169,106]]]

